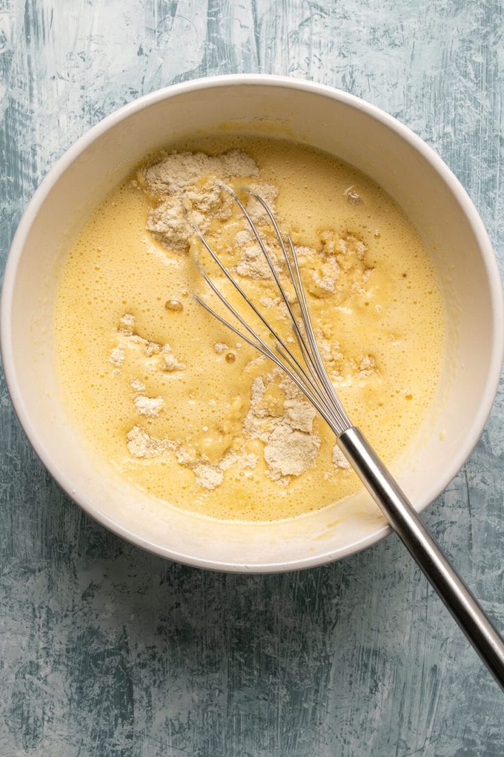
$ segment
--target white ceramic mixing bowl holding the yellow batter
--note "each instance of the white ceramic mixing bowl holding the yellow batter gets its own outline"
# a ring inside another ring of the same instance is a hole
[[[92,207],[144,155],[190,134],[246,129],[308,142],[347,160],[406,210],[434,255],[449,319],[443,391],[394,467],[423,509],[471,452],[502,364],[502,290],[474,205],[443,161],[405,126],[326,86],[277,76],[219,76],[153,92],[88,131],[57,162],[26,209],[2,293],[2,356],[20,422],[59,484],[107,528],[148,550],[217,570],[273,572],[320,565],[388,533],[364,494],[292,521],[217,522],[129,487],[85,452],[55,391],[54,270]],[[441,438],[440,438],[441,437]]]

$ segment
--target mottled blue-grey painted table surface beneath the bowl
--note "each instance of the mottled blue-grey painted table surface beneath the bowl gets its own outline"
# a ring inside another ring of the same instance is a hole
[[[283,73],[411,126],[502,263],[497,0],[0,0],[2,258],[54,160],[132,98]],[[396,537],[273,576],[165,562],[54,484],[0,394],[0,757],[504,754],[502,696]],[[504,405],[424,513],[504,627]]]

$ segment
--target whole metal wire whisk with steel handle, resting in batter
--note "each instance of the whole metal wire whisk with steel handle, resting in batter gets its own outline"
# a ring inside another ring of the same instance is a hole
[[[231,275],[229,269],[224,266],[198,226],[193,223],[196,235],[212,259],[217,263],[218,268],[240,293],[243,301],[255,313],[255,316],[257,316],[264,328],[267,329],[267,333],[273,336],[274,349],[261,338],[255,329],[252,329],[246,318],[230,304],[197,260],[196,263],[203,278],[224,307],[233,316],[234,322],[237,322],[240,326],[233,326],[232,322],[224,319],[197,295],[195,295],[196,301],[218,319],[218,321],[224,324],[224,326],[227,326],[228,329],[241,339],[252,345],[252,347],[255,347],[261,354],[283,369],[320,413],[320,416],[329,424],[335,433],[339,448],[351,463],[351,466],[363,482],[367,491],[369,491],[369,494],[373,497],[373,500],[375,500],[388,519],[391,528],[394,529],[403,541],[413,559],[416,560],[428,578],[428,581],[431,582],[450,610],[453,618],[456,619],[460,628],[462,628],[465,636],[481,656],[481,659],[487,665],[494,678],[496,678],[500,687],[504,689],[504,642],[502,638],[491,624],[490,619],[485,615],[483,609],[481,609],[478,601],[473,597],[468,587],[441,552],[436,540],[434,540],[422,524],[416,510],[413,509],[410,501],[404,492],[401,491],[397,481],[391,476],[391,473],[386,469],[359,429],[351,424],[345,408],[342,406],[332,386],[317,347],[317,340],[308,311],[305,289],[299,271],[298,257],[292,239],[290,236],[286,236],[286,239],[284,239],[267,203],[259,195],[247,190],[249,195],[252,195],[255,201],[261,204],[271,222],[283,255],[289,282],[292,285],[293,297],[289,296],[286,288],[280,281],[280,275],[271,253],[268,251],[267,245],[263,238],[261,238],[243,202],[236,192],[233,192],[232,188],[223,184],[220,186],[233,198],[237,206],[240,207],[243,216],[252,230],[252,234],[261,248],[271,271],[271,277],[277,285],[282,301],[292,320],[292,329],[299,347],[299,354],[294,354],[286,343],[286,340],[281,338],[277,334],[277,331],[272,328],[271,324],[267,322],[267,319],[264,318],[264,315],[258,310],[255,303],[249,299],[243,288],[240,287],[240,284]],[[295,313],[295,307],[298,310],[298,315]]]

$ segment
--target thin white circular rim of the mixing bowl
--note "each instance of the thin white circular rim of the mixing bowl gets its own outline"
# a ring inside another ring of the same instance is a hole
[[[5,372],[5,378],[8,385],[9,393],[11,394],[11,400],[14,410],[17,414],[17,418],[20,421],[26,436],[32,444],[36,454],[41,459],[42,463],[55,478],[58,484],[82,509],[92,518],[100,522],[110,531],[113,531],[120,537],[123,537],[138,547],[142,547],[152,553],[162,556],[166,559],[172,559],[177,562],[185,563],[186,565],[193,565],[194,567],[225,571],[225,572],[254,572],[254,573],[271,573],[271,572],[285,572],[294,571],[300,569],[307,569],[315,567],[317,565],[324,565],[328,562],[332,562],[336,559],[349,556],[360,550],[369,547],[371,544],[375,544],[383,537],[391,534],[391,528],[388,525],[378,528],[373,531],[367,537],[355,541],[352,544],[348,544],[345,547],[341,547],[338,550],[332,550],[327,553],[320,553],[317,556],[300,556],[297,559],[293,559],[289,562],[267,562],[264,564],[243,565],[235,562],[220,562],[215,560],[204,559],[201,557],[178,553],[174,549],[168,547],[162,547],[158,544],[153,544],[144,537],[135,534],[130,531],[124,525],[111,519],[109,516],[98,511],[92,503],[90,503],[84,496],[79,494],[73,487],[72,481],[66,472],[60,469],[54,459],[49,456],[45,450],[45,445],[39,438],[36,427],[32,424],[29,417],[29,413],[23,402],[23,397],[19,391],[19,385],[17,382],[16,370],[14,367],[14,351],[11,341],[11,310],[12,301],[14,297],[14,284],[17,275],[17,268],[20,263],[21,256],[23,254],[23,248],[26,243],[26,238],[29,234],[29,230],[33,221],[36,219],[42,203],[45,201],[46,196],[51,192],[51,189],[60,179],[60,176],[66,171],[68,167],[91,145],[96,139],[102,136],[105,132],[116,126],[122,120],[127,119],[131,115],[138,113],[144,108],[150,107],[159,101],[183,95],[188,92],[197,92],[204,89],[215,89],[223,86],[273,86],[291,90],[301,90],[303,92],[311,92],[315,95],[331,98],[333,100],[341,101],[344,104],[348,104],[357,110],[363,111],[369,117],[379,121],[383,125],[391,129],[399,139],[403,139],[408,142],[416,151],[420,154],[423,160],[426,160],[431,167],[441,176],[447,188],[456,199],[462,212],[468,219],[468,223],[472,227],[475,238],[478,241],[478,247],[481,252],[481,258],[484,263],[484,269],[487,273],[487,279],[490,289],[490,305],[493,316],[493,343],[490,357],[490,369],[487,373],[487,379],[484,386],[484,391],[481,395],[481,402],[478,407],[478,412],[472,419],[472,424],[468,429],[465,439],[457,450],[456,455],[453,456],[450,466],[447,466],[444,476],[438,480],[438,484],[435,487],[431,487],[422,498],[416,502],[416,509],[421,512],[425,507],[431,503],[436,497],[441,494],[447,487],[447,484],[453,479],[453,477],[462,468],[465,460],[474,449],[477,444],[478,438],[484,429],[484,425],[487,422],[490,410],[493,405],[493,400],[496,396],[496,391],[499,386],[500,372],[502,368],[502,360],[504,360],[504,300],[502,298],[502,285],[499,274],[499,267],[496,262],[496,257],[493,253],[493,248],[490,243],[487,231],[484,228],[483,221],[479,216],[478,210],[476,210],[468,193],[462,187],[459,179],[453,174],[450,168],[444,163],[444,160],[424,142],[419,136],[415,134],[408,126],[398,121],[390,114],[382,111],[381,108],[374,104],[371,104],[356,95],[351,95],[342,89],[336,89],[325,84],[318,84],[307,81],[305,79],[295,79],[290,76],[275,76],[271,74],[224,74],[220,76],[209,76],[199,79],[191,79],[184,83],[178,83],[170,86],[166,86],[162,89],[158,89],[154,92],[150,92],[148,95],[144,95],[141,98],[137,98],[134,101],[120,107],[112,114],[100,120],[99,123],[91,126],[63,155],[57,160],[36,192],[29,201],[20,223],[17,226],[17,231],[14,234],[14,238],[11,243],[11,249],[8,254],[7,262],[5,264],[4,280],[2,285],[2,301],[0,303],[0,349],[2,352],[2,362]]]

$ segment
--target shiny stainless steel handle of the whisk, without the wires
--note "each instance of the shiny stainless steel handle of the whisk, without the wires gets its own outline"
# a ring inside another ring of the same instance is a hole
[[[416,510],[358,428],[338,444],[389,524],[438,592],[499,686],[504,689],[504,641],[423,525]]]

